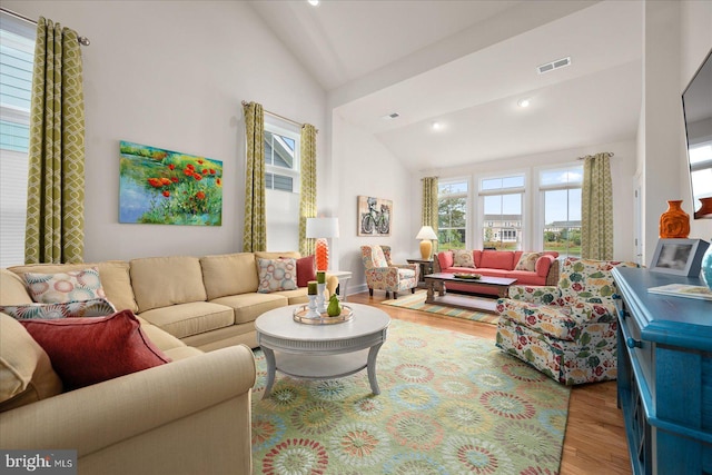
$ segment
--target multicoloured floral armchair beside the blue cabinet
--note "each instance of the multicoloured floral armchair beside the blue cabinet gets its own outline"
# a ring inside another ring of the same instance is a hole
[[[496,345],[566,385],[615,379],[613,267],[635,263],[567,258],[558,286],[511,286],[497,300]]]

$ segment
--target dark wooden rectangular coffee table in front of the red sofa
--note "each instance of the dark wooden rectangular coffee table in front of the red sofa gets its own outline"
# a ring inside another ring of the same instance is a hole
[[[506,297],[510,286],[516,279],[505,277],[487,277],[482,276],[478,279],[457,278],[453,274],[428,274],[425,276],[425,287],[427,288],[426,304],[443,305],[446,307],[464,308],[466,310],[482,310],[490,314],[496,314],[496,300],[476,297],[462,297],[456,295],[447,295],[447,283],[465,284],[472,287],[496,287],[497,296]],[[435,293],[437,291],[437,295]]]

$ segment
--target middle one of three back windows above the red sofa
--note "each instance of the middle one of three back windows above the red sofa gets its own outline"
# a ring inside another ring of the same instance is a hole
[[[482,179],[479,198],[484,209],[483,247],[521,249],[524,175]]]

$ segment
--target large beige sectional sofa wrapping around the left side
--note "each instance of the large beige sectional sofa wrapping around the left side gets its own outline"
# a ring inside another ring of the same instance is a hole
[[[257,293],[256,259],[237,253],[0,269],[0,305],[31,304],[24,273],[97,267],[117,310],[130,309],[172,362],[71,392],[26,328],[0,313],[0,447],[71,448],[79,473],[251,473],[255,319],[306,301],[306,289]],[[205,353],[209,352],[209,353]]]

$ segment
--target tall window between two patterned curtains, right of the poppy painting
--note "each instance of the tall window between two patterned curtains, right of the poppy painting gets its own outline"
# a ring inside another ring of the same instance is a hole
[[[265,117],[267,250],[298,249],[300,131]]]

